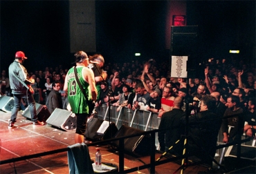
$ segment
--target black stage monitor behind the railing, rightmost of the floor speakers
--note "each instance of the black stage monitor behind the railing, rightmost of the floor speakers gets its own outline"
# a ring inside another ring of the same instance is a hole
[[[131,128],[129,126],[122,125],[118,132],[116,133],[114,138],[125,137],[128,135],[134,135],[138,133],[144,133],[138,128]],[[149,144],[150,144],[150,136],[149,135],[141,135],[138,137],[130,137],[124,140],[125,151],[130,154],[134,154],[137,156],[145,156],[149,155]],[[114,146],[119,147],[119,141],[113,142]]]

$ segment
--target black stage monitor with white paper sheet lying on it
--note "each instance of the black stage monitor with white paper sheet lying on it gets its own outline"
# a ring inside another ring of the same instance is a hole
[[[116,127],[116,124],[111,122],[109,125],[108,121],[93,117],[87,122],[87,128],[84,137],[91,141],[100,141],[102,139],[113,138],[117,132],[118,128]]]

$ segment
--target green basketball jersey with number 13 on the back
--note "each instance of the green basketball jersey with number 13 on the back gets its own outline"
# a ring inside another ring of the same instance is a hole
[[[77,77],[88,96],[88,99],[91,99],[91,88],[89,84],[84,81],[82,77],[82,68],[86,68],[84,66],[77,67]],[[68,102],[71,105],[71,109],[73,113],[89,113],[89,107],[86,102],[86,98],[80,89],[80,86],[77,84],[75,80],[75,72],[74,67],[68,70],[67,74],[68,81]]]

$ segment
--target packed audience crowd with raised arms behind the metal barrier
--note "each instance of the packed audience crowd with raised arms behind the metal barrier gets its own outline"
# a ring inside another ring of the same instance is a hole
[[[169,62],[154,59],[144,62],[136,60],[122,64],[104,64],[103,69],[107,72],[107,79],[98,83],[100,93],[95,106],[100,107],[103,103],[113,104],[118,106],[117,111],[120,107],[127,106],[133,110],[158,113],[158,117],[162,117],[165,113],[170,114],[168,112],[174,106],[181,107],[185,111],[185,105],[189,104],[190,114],[193,115],[199,112],[201,98],[211,95],[216,99],[217,108],[214,112],[223,120],[219,125],[223,131],[223,142],[231,142],[236,139],[236,135],[242,134],[239,130],[241,126],[246,135],[255,136],[255,64],[247,64],[243,60],[210,59],[200,66],[203,68],[195,68],[194,77],[188,74],[188,79],[172,77],[168,64]],[[48,95],[53,90],[54,81],[54,84],[60,84],[60,90],[58,89],[62,98],[60,108],[66,109],[68,100],[63,86],[68,68],[60,65],[30,72],[30,76],[35,79],[35,84],[32,86],[37,103],[48,103]],[[0,80],[1,95],[11,96],[6,70],[2,70]],[[182,104],[175,104],[176,97],[181,97]],[[185,99],[188,99],[188,102]],[[230,115],[236,117],[223,119]],[[229,133],[228,126],[231,126]]]

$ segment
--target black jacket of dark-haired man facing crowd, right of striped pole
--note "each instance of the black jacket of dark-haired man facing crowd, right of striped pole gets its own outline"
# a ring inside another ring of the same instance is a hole
[[[196,155],[203,162],[211,163],[211,157],[214,157],[221,126],[221,117],[211,113],[209,110],[201,111],[196,115],[188,117],[188,151],[191,155]],[[183,117],[185,124],[185,117]]]

